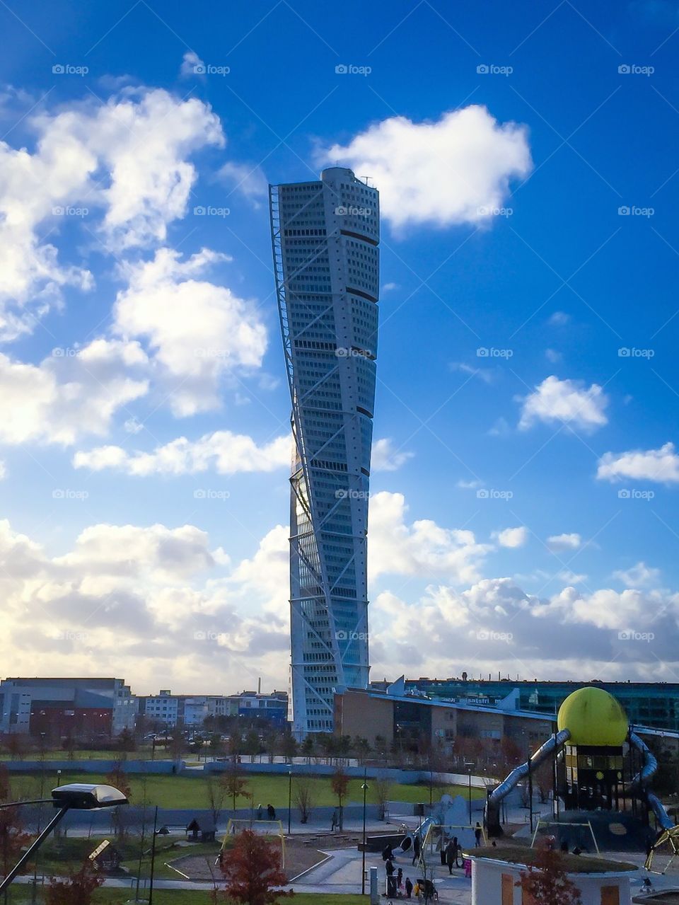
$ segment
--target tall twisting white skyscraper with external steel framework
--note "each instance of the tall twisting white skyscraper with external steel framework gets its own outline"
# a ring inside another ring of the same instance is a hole
[[[333,692],[368,683],[366,548],[379,196],[349,169],[270,186],[292,398],[290,633],[298,738],[333,729]]]

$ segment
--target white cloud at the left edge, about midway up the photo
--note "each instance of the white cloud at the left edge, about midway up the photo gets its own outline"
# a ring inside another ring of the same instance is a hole
[[[38,366],[0,354],[0,442],[69,445],[103,435],[118,409],[148,390],[148,359],[137,342],[96,339],[54,351],[61,355]]]

